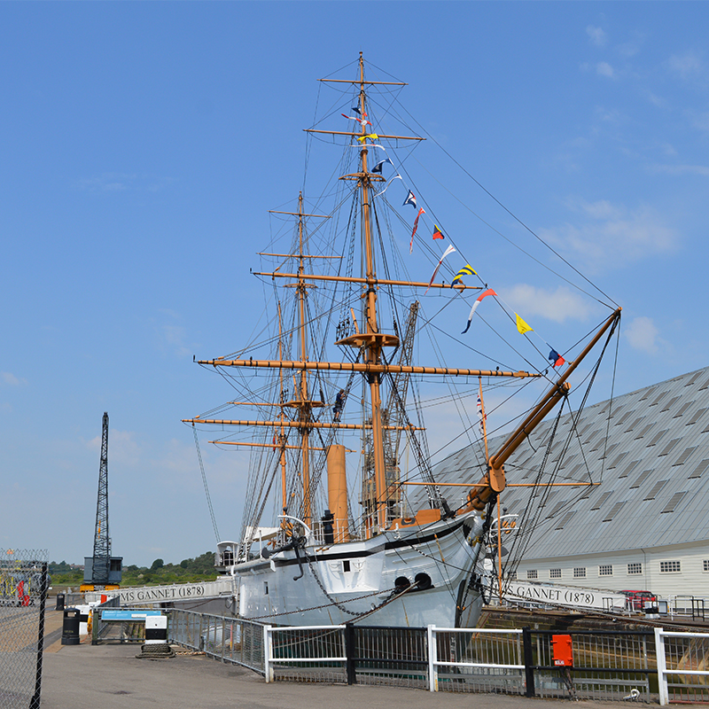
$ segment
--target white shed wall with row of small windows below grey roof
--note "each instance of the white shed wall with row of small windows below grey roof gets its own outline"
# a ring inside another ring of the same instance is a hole
[[[679,562],[679,571],[661,570],[674,568],[676,565],[672,562]],[[642,572],[628,573],[628,565],[635,565],[635,569]],[[611,567],[612,573],[601,573],[602,566],[605,572]],[[585,576],[578,571],[574,574],[575,569],[584,569]],[[561,570],[561,576],[551,575],[552,570]],[[532,579],[528,572],[533,572]],[[614,591],[649,590],[666,600],[675,596],[696,596],[709,602],[709,541],[578,557],[525,559],[518,565],[517,578]]]

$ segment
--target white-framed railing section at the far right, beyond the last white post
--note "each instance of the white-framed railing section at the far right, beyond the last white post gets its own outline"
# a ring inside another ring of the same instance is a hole
[[[709,633],[655,628],[659,703],[709,702]]]

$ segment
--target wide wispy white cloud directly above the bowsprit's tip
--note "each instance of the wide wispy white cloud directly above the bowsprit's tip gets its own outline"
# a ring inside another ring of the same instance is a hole
[[[667,226],[651,206],[627,209],[604,199],[571,199],[567,206],[580,218],[556,229],[541,230],[541,237],[580,253],[592,267],[604,264],[604,269],[608,269],[670,252],[679,241],[676,230]]]

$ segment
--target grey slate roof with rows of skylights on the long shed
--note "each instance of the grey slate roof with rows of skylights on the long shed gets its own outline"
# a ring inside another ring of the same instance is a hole
[[[561,417],[544,470],[580,487],[551,487],[543,507],[541,495],[534,498],[540,525],[527,559],[709,541],[709,367],[590,406],[575,431],[574,417]],[[554,421],[548,417],[505,464],[508,484],[534,482]],[[479,446],[464,448],[434,475],[477,480],[483,460]],[[588,487],[588,479],[600,485]],[[442,489],[456,499],[449,492],[456,488]],[[508,487],[501,501],[521,513],[531,495],[532,488]]]

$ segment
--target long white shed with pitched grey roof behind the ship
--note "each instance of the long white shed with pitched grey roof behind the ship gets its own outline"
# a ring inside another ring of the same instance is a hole
[[[475,481],[482,461],[464,448],[436,478]],[[709,368],[547,421],[505,471],[510,576],[709,597]],[[535,481],[557,487],[515,487]]]

